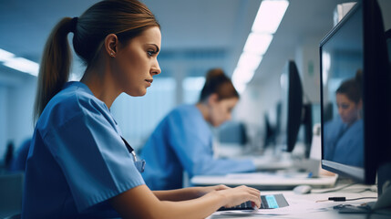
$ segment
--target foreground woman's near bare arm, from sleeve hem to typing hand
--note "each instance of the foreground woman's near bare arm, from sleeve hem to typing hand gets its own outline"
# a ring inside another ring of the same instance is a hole
[[[261,205],[260,192],[247,186],[206,193],[188,201],[160,201],[146,185],[139,185],[111,199],[114,209],[123,218],[205,218],[221,206],[231,207],[252,201]]]

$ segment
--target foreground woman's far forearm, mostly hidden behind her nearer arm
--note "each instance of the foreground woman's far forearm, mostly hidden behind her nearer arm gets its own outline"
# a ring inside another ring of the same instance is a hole
[[[160,201],[185,201],[199,198],[206,193],[211,193],[212,191],[219,191],[229,188],[230,187],[221,184],[205,187],[188,187],[177,190],[153,191],[152,193],[154,193]]]

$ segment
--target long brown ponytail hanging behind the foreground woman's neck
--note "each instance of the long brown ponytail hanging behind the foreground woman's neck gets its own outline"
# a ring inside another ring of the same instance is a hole
[[[46,104],[67,83],[71,53],[67,34],[74,31],[75,19],[63,18],[47,38],[39,67],[34,119],[37,120]]]

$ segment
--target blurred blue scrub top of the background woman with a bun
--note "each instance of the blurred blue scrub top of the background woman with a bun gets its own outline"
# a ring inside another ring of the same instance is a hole
[[[250,160],[213,158],[211,128],[195,105],[172,110],[149,137],[141,157],[151,190],[181,188],[183,171],[190,177],[255,171]]]

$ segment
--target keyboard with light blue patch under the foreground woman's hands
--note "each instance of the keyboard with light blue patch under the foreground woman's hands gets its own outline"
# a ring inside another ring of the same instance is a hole
[[[274,209],[288,206],[285,197],[282,193],[261,195],[261,207],[260,209]],[[253,210],[252,202],[247,201],[233,207],[221,207],[218,211],[233,211],[233,210]]]

